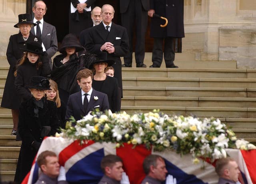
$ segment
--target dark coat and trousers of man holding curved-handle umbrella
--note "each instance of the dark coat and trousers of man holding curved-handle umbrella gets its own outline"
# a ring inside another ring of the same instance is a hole
[[[152,51],[153,67],[160,67],[163,60],[162,44],[164,42],[164,60],[166,68],[174,68],[174,38],[184,37],[184,0],[150,0],[150,9],[155,14],[166,17],[168,24],[160,27],[165,21],[160,18],[151,19],[150,36],[154,38]]]

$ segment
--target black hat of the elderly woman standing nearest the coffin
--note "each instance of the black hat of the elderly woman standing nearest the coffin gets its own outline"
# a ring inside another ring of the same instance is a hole
[[[49,80],[42,76],[31,77],[28,86],[26,87],[40,90],[51,90]]]

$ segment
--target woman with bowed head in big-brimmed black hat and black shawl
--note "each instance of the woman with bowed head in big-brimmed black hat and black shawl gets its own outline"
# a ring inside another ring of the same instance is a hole
[[[61,43],[60,55],[53,59],[51,78],[58,84],[60,99],[66,105],[71,94],[70,88],[78,72],[77,52],[84,50],[74,34],[66,35]],[[80,90],[76,83],[77,91]]]

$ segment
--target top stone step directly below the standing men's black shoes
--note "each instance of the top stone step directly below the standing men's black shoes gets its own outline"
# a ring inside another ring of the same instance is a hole
[[[123,77],[256,78],[255,69],[122,68]]]

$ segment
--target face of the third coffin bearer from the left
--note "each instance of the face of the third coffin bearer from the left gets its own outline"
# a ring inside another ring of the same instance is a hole
[[[165,180],[167,170],[166,170],[164,160],[162,158],[158,158],[156,160],[156,167],[153,166],[153,168],[151,169],[151,172],[155,179],[160,181]]]

